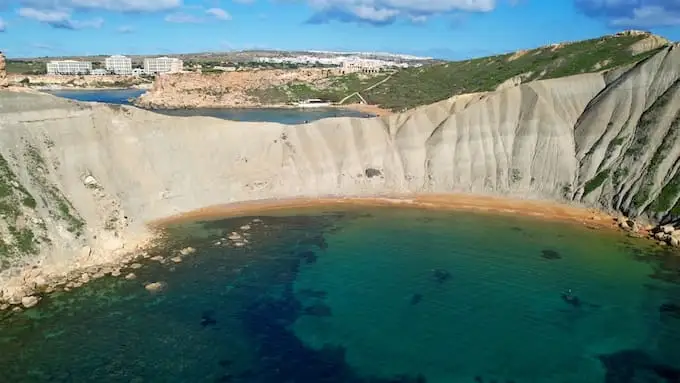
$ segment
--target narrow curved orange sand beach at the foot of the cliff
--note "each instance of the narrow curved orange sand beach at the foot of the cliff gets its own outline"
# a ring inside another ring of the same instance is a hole
[[[596,209],[577,207],[555,202],[522,200],[504,197],[477,196],[468,194],[427,194],[410,196],[356,197],[356,198],[299,198],[282,200],[260,200],[209,206],[150,222],[152,227],[194,220],[211,220],[262,213],[277,213],[290,210],[314,210],[319,208],[399,206],[417,209],[481,211],[497,214],[531,216],[548,220],[580,223],[590,228],[617,227],[611,215]]]

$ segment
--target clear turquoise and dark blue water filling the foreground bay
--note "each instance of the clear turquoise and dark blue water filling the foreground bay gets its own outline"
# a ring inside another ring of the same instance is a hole
[[[680,379],[680,312],[668,310],[680,257],[667,250],[565,223],[388,208],[259,217],[247,247],[225,246],[252,218],[169,228],[156,252],[197,253],[4,314],[0,382]],[[167,288],[149,293],[152,281]]]

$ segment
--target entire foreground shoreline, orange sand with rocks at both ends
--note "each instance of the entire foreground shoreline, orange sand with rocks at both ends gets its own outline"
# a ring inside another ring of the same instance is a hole
[[[592,230],[620,230],[629,236],[639,239],[649,239],[660,246],[680,247],[680,228],[673,225],[658,225],[638,223],[624,216],[613,217],[597,209],[558,204],[548,201],[527,201],[510,198],[463,196],[463,195],[420,195],[411,197],[362,197],[362,198],[322,198],[322,199],[291,199],[259,201],[245,204],[234,204],[208,207],[194,212],[179,214],[156,222],[149,223],[153,233],[143,243],[135,246],[134,250],[113,252],[109,259],[90,259],[91,249],[83,249],[83,254],[70,265],[67,272],[54,272],[49,268],[30,266],[17,270],[14,283],[17,288],[9,296],[0,295],[0,313],[21,312],[32,308],[46,296],[54,292],[68,292],[79,288],[90,281],[106,276],[136,279],[135,270],[150,262],[161,264],[181,263],[186,257],[192,256],[197,249],[185,247],[182,249],[168,249],[163,246],[163,227],[168,224],[190,222],[193,220],[222,219],[245,215],[291,211],[291,209],[305,208],[360,208],[362,206],[399,206],[416,209],[435,210],[463,210],[483,211],[493,214],[519,214],[536,219],[556,220],[583,225]],[[249,244],[251,228],[263,225],[261,219],[255,218],[247,224],[233,228],[224,233],[217,245],[224,247],[242,248]],[[678,252],[680,256],[680,252]],[[149,282],[140,285],[149,292],[164,289],[163,281]],[[2,292],[0,290],[0,292]]]

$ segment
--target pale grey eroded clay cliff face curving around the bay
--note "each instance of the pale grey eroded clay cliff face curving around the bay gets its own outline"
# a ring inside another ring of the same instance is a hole
[[[151,220],[301,196],[503,194],[673,220],[679,79],[671,46],[625,70],[299,126],[0,92],[5,259],[97,263]]]

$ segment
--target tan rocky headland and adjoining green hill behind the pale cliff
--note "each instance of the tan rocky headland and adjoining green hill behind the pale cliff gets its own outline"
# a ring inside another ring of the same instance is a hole
[[[659,36],[628,31],[505,55],[372,74],[340,74],[341,71],[333,69],[181,74],[161,77],[154,91],[146,94],[139,105],[271,106],[307,98],[347,104],[362,101],[361,96],[382,109],[403,111],[455,95],[492,91],[499,86],[631,66],[668,44]],[[313,75],[308,74],[312,72]]]

